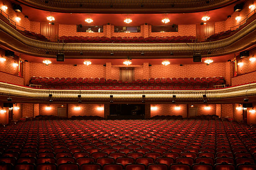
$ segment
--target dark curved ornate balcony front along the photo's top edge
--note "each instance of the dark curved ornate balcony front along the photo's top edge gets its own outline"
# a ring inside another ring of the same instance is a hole
[[[17,0],[41,10],[64,13],[192,13],[214,10],[235,0]]]

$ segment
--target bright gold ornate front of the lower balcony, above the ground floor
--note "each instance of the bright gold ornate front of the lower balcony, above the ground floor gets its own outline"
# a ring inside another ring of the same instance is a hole
[[[146,95],[146,102],[171,102],[176,95],[177,103],[202,103],[202,95],[206,94],[210,103],[237,102],[241,97],[256,97],[256,83],[216,90],[55,90],[35,89],[0,82],[0,100],[12,97],[16,102],[49,102],[52,94],[54,102],[109,102],[113,95],[114,102],[141,102]]]

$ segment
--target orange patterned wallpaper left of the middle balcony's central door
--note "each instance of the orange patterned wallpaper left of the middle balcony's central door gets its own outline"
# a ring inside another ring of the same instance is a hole
[[[50,64],[30,63],[30,77],[104,77],[103,65],[66,65],[66,64]]]

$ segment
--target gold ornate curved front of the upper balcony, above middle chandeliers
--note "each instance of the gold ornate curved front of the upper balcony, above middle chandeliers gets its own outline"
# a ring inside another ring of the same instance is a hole
[[[34,40],[26,37],[10,25],[0,20],[0,43],[20,53],[39,57],[56,57],[56,53],[64,49],[66,58],[81,58],[80,52],[84,52],[92,58],[110,56],[115,52],[116,56],[140,56],[141,51],[148,57],[169,56],[174,52],[174,57],[192,57],[194,51],[201,52],[205,56],[208,51],[209,57],[226,55],[243,50],[254,45],[256,42],[256,20],[246,25],[236,34],[212,42],[197,43],[57,43]],[[49,51],[49,54],[46,54]],[[146,56],[145,55],[145,56]],[[111,56],[113,58],[113,56]],[[114,56],[115,57],[115,56]],[[140,56],[141,57],[141,56]],[[134,57],[135,58],[135,57]]]

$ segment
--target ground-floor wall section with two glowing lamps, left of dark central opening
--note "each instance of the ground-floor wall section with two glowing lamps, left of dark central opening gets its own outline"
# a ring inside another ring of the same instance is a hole
[[[81,110],[74,110],[77,104],[69,104],[68,116],[78,116],[78,115],[87,115],[87,116],[100,116],[104,117],[104,104],[79,104]],[[97,110],[98,107],[102,107],[103,110]]]

